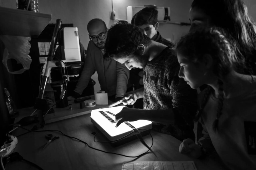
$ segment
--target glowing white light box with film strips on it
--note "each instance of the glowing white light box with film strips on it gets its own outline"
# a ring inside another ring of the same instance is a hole
[[[115,114],[119,113],[125,106],[112,108],[96,109],[91,112],[91,122],[96,126],[109,140],[116,140],[133,132],[132,128],[125,123],[115,127]],[[138,120],[129,122],[136,129],[152,129],[152,122],[147,120]],[[140,131],[141,132],[141,131]],[[133,136],[132,133],[129,136]],[[129,137],[127,136],[127,137]]]

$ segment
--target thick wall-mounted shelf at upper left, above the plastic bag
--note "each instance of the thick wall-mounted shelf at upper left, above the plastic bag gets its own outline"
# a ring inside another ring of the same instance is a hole
[[[50,14],[0,7],[0,35],[37,37],[51,21]]]

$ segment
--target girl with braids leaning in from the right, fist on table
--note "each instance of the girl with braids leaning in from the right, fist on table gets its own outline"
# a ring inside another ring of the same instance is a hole
[[[220,28],[197,29],[178,42],[179,77],[193,89],[208,85],[198,97],[196,140],[183,140],[179,151],[195,158],[217,153],[230,169],[256,169],[249,154],[255,153],[256,76],[234,70],[240,62],[235,48]],[[248,122],[254,124],[249,131]]]

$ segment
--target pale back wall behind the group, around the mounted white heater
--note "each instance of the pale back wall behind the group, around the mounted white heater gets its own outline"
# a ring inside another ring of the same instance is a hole
[[[189,22],[189,8],[193,0],[113,0],[113,7],[116,11],[116,18],[126,19],[127,6],[157,5],[169,6],[171,10],[171,21]],[[256,21],[256,1],[243,0],[248,12]],[[2,7],[16,8],[16,0],[0,0]],[[117,21],[110,20],[111,0],[39,0],[39,12],[52,14],[50,23],[55,23],[56,19],[62,19],[62,23],[73,23],[78,27],[79,36],[82,44],[87,48],[89,36],[87,32],[87,23],[93,18],[101,18],[110,27]],[[173,41],[188,31],[188,26],[179,26],[173,24],[161,24],[159,32],[165,38],[171,38]]]

